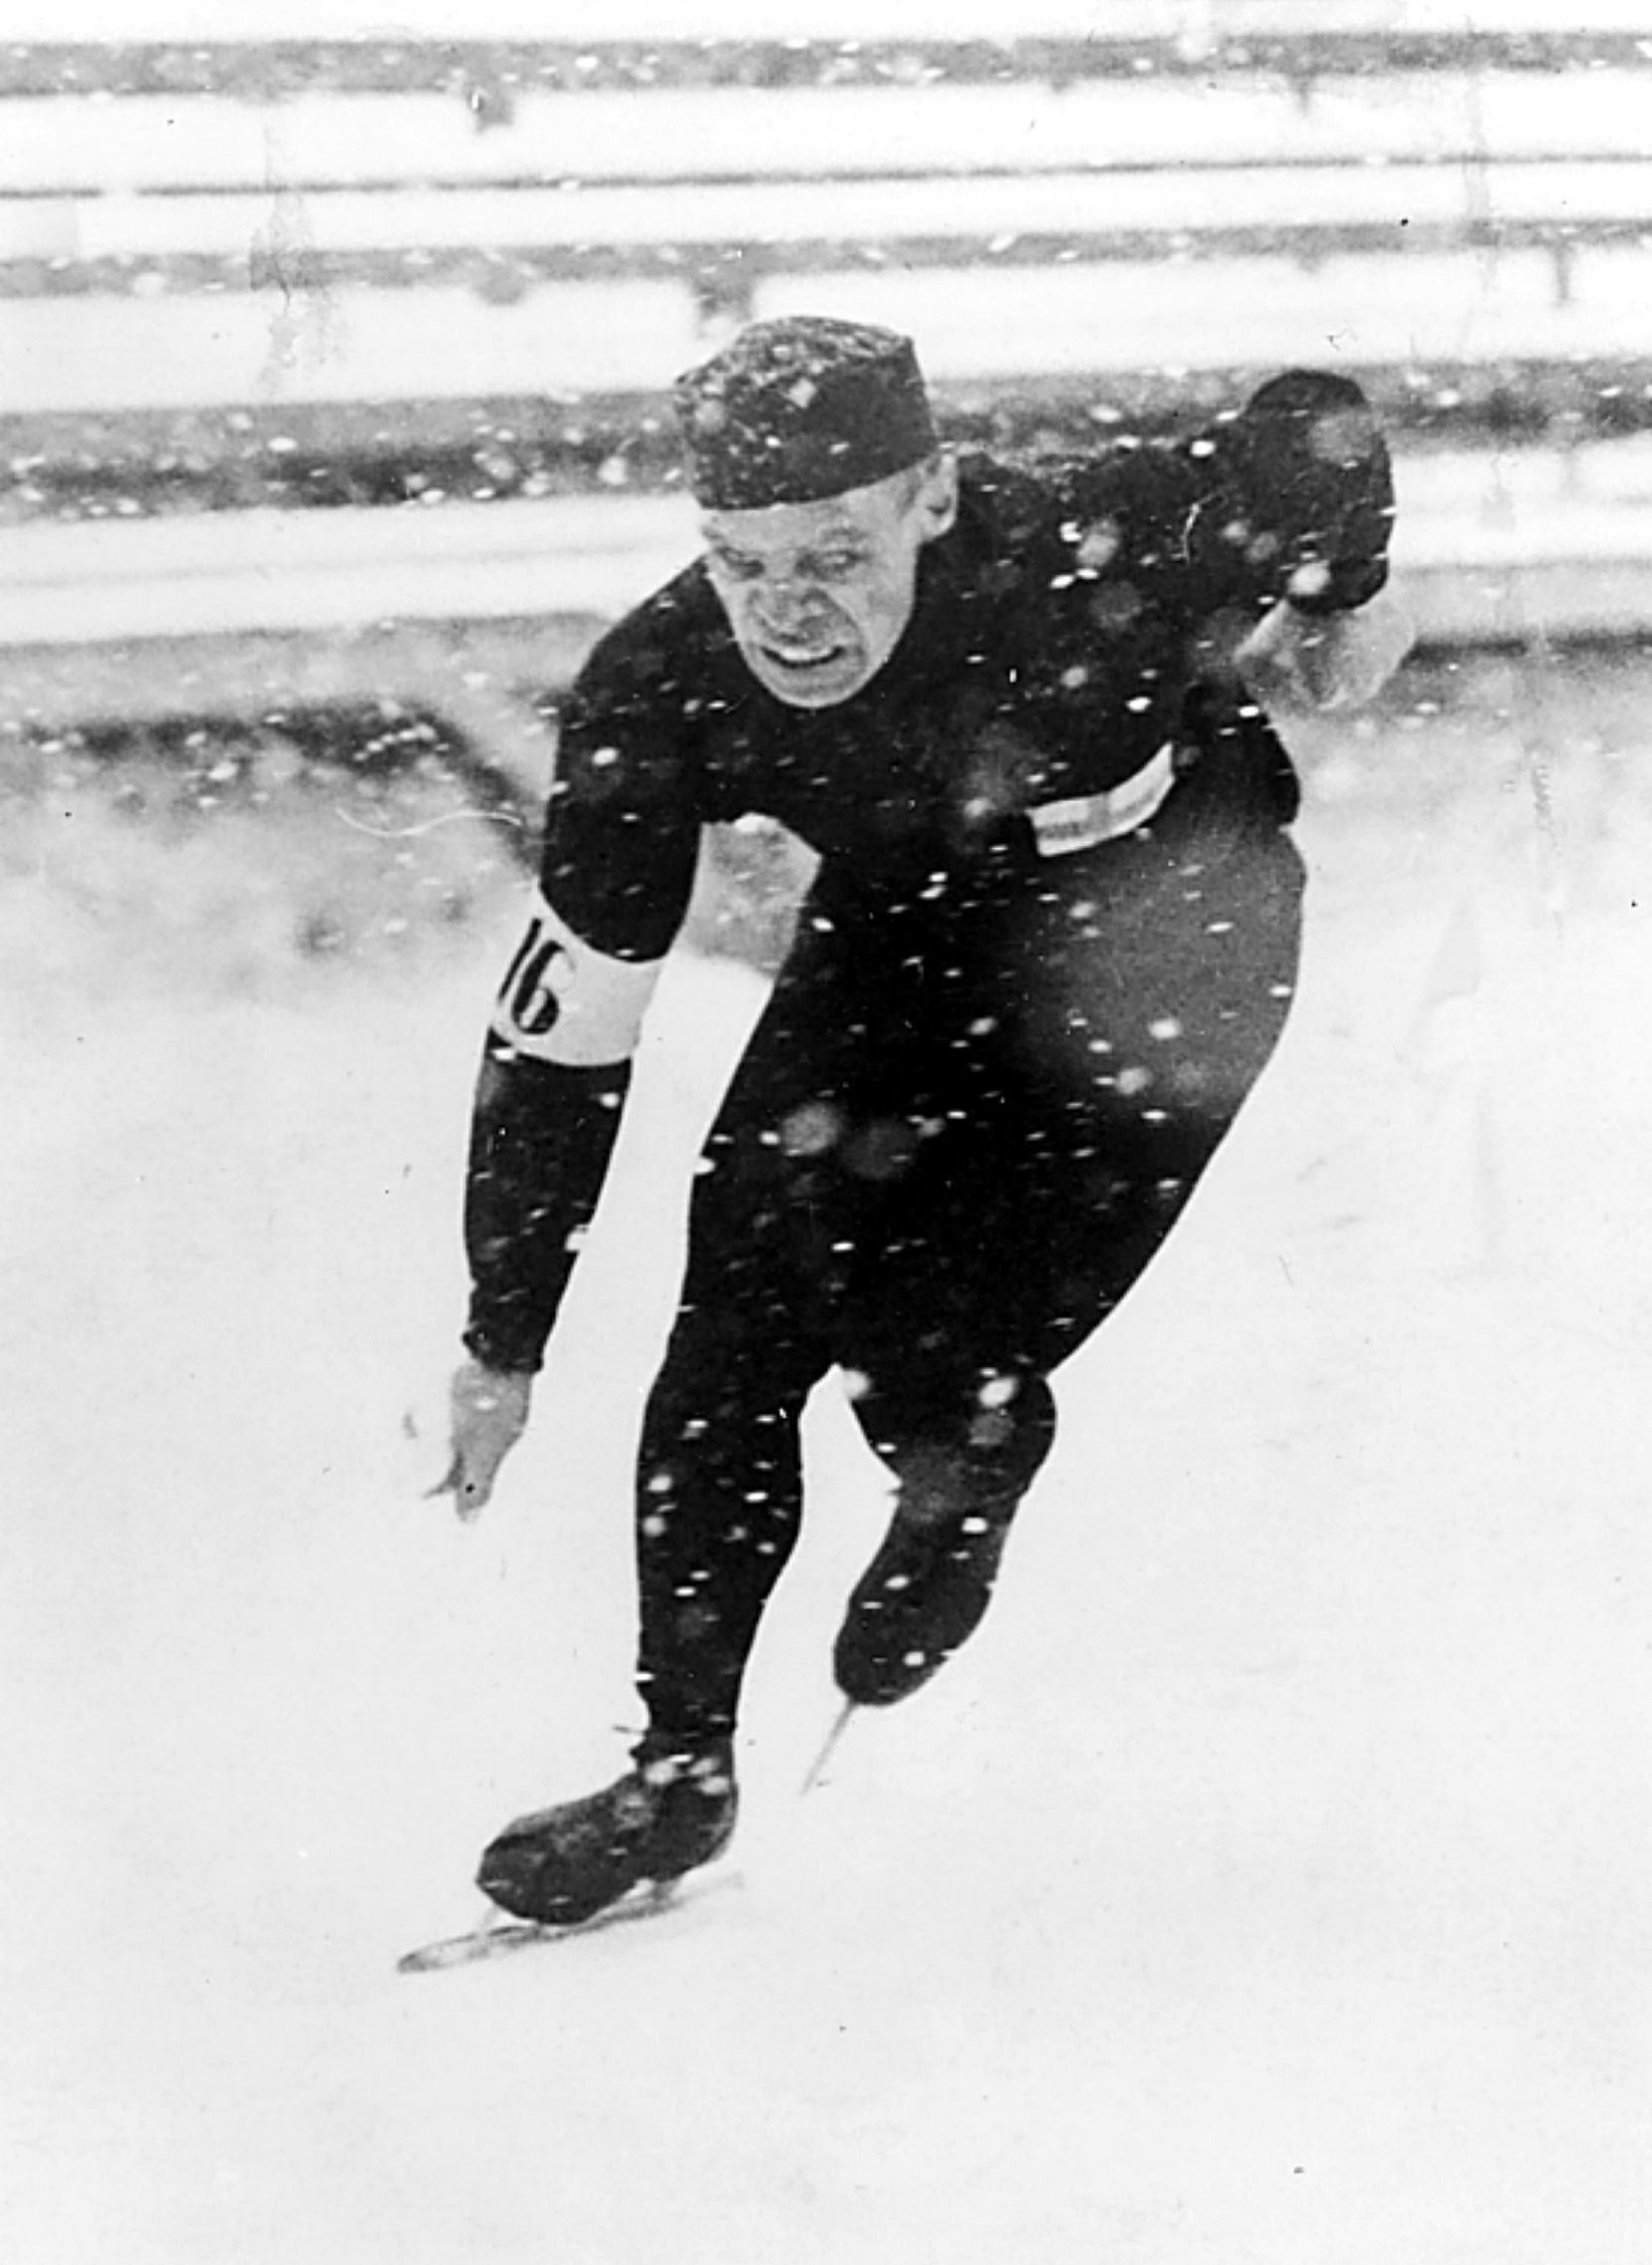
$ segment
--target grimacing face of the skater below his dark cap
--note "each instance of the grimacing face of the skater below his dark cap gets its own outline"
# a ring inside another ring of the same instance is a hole
[[[757,682],[786,707],[852,700],[900,643],[918,553],[956,512],[947,455],[823,503],[705,512],[712,589]]]

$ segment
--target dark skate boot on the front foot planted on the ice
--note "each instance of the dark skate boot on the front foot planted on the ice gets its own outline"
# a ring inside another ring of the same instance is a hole
[[[734,1837],[730,1740],[650,1735],[601,1794],[535,1810],[489,1841],[476,1884],[514,1918],[576,1928],[644,1882],[680,1880]]]

